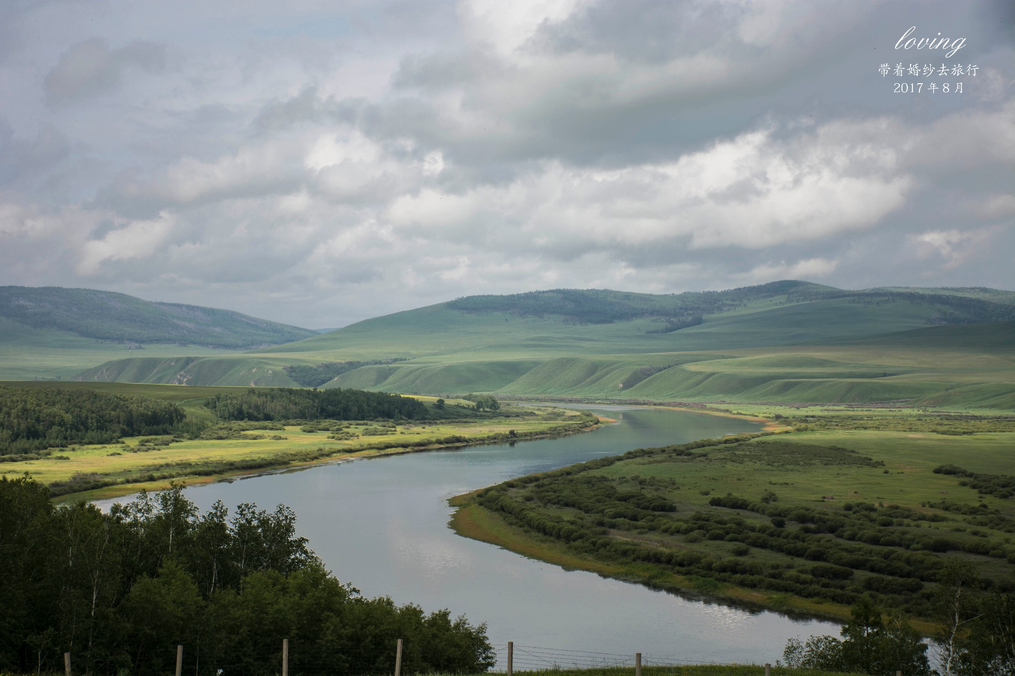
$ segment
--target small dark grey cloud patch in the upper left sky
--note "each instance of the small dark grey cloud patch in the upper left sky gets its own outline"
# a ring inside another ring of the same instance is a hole
[[[148,42],[134,42],[111,50],[100,37],[71,46],[46,74],[43,88],[53,103],[85,98],[116,89],[128,67],[156,71],[164,64],[164,48]]]

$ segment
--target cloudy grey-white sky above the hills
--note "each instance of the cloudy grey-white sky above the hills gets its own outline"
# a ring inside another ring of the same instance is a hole
[[[1013,221],[1010,1],[0,3],[0,285],[1015,289]]]

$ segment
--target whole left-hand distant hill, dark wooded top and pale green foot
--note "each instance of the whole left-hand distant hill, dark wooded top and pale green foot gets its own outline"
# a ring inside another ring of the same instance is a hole
[[[69,378],[122,356],[229,355],[314,334],[230,310],[107,291],[0,287],[4,379]]]

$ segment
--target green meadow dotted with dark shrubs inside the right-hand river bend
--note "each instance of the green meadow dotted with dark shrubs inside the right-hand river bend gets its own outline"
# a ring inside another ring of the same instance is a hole
[[[946,556],[1015,587],[1015,501],[934,471],[1015,475],[1015,419],[786,411],[806,431],[507,481],[455,499],[453,526],[567,568],[836,618],[863,593],[926,617]]]

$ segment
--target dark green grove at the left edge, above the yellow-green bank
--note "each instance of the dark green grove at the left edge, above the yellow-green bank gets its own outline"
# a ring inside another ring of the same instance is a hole
[[[179,405],[86,389],[0,386],[0,456],[124,436],[165,434],[183,423]]]

